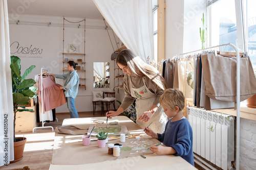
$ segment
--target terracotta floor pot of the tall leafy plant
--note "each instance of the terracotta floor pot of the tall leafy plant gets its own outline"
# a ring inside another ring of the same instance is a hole
[[[23,138],[23,137],[16,137],[18,138]],[[17,162],[23,158],[23,152],[25,148],[25,144],[27,142],[27,138],[25,137],[24,140],[14,142],[14,160],[10,161],[10,163]]]

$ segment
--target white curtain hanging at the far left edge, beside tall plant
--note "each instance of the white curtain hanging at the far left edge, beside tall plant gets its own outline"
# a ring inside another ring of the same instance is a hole
[[[0,0],[0,166],[13,155],[13,107],[7,0]]]

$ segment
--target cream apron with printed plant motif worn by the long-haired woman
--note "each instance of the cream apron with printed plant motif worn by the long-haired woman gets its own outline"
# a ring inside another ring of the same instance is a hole
[[[130,84],[131,82],[131,78]],[[136,124],[144,129],[148,125],[150,125],[151,122],[153,122],[149,128],[151,128],[156,133],[163,133],[165,129],[165,124],[167,122],[167,116],[163,113],[163,108],[160,106],[156,112],[153,114],[151,119],[149,119],[147,122],[140,122],[138,119],[140,115],[142,115],[144,112],[150,110],[150,108],[153,106],[155,100],[156,100],[156,94],[151,92],[145,85],[145,81],[143,78],[143,86],[140,88],[133,88],[131,86],[131,95],[136,99]]]

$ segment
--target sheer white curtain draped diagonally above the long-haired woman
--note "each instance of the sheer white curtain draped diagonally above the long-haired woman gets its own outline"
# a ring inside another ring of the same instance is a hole
[[[143,61],[154,59],[153,9],[150,0],[93,0],[123,44]]]

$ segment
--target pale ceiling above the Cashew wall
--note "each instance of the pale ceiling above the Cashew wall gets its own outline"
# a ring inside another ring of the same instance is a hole
[[[9,13],[87,19],[103,18],[93,0],[7,0],[7,5]],[[157,0],[152,0],[152,5],[154,8]]]

